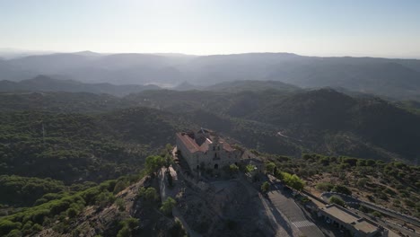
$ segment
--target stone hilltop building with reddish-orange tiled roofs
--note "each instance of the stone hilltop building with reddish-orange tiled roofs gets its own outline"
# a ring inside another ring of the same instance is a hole
[[[232,147],[214,132],[201,128],[197,132],[176,134],[179,154],[188,162],[192,171],[220,169],[241,161],[241,151]]]

